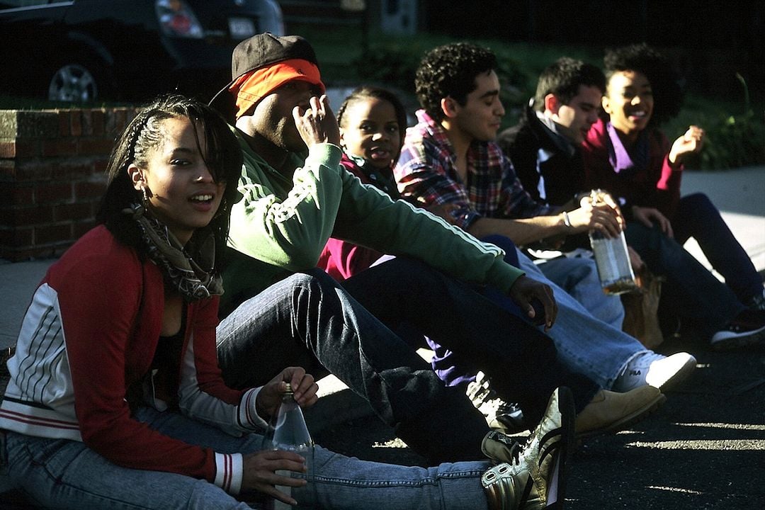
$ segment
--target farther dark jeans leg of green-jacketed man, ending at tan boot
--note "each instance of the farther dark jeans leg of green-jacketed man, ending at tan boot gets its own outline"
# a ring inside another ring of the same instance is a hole
[[[394,258],[343,282],[391,330],[405,325],[489,375],[492,388],[518,402],[530,421],[542,416],[558,386],[574,393],[578,410],[597,386],[558,362],[552,339],[534,326],[421,261]]]

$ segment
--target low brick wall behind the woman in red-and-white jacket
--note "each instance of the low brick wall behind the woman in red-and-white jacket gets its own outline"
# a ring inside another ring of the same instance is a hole
[[[95,224],[132,108],[0,111],[0,258],[60,255]]]

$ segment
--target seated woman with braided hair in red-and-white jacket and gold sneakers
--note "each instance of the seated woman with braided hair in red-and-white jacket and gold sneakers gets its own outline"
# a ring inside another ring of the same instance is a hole
[[[268,496],[308,508],[559,508],[574,418],[565,388],[526,447],[496,433],[484,439],[487,455],[504,461],[496,466],[392,466],[317,447],[308,476],[298,454],[259,449],[255,433],[286,383],[301,405],[314,404],[317,385],[299,367],[260,388],[223,383],[219,261],[241,165],[223,119],[181,96],[143,109],[119,138],[102,224],[50,267],[8,360],[0,453],[31,501],[210,510]],[[295,499],[275,486],[290,486]]]

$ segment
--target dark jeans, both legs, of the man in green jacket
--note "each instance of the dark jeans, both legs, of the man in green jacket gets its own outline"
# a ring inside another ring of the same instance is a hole
[[[469,351],[471,361],[496,376],[500,395],[525,406],[529,420],[541,417],[557,386],[574,391],[579,409],[597,390],[558,364],[549,338],[422,263],[397,258],[345,283],[348,291],[317,269],[240,304],[217,330],[226,382],[262,385],[289,365],[329,370],[431,463],[481,458],[488,427],[464,391],[445,386],[392,333],[401,320]]]

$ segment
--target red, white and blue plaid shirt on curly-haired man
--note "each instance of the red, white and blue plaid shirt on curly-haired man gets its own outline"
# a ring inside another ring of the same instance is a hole
[[[425,110],[418,124],[406,130],[399,161],[393,169],[402,197],[425,206],[457,204],[452,215],[467,229],[481,216],[531,218],[552,212],[523,189],[513,164],[494,141],[473,141],[467,151],[467,183],[455,167],[457,159],[444,128]]]

